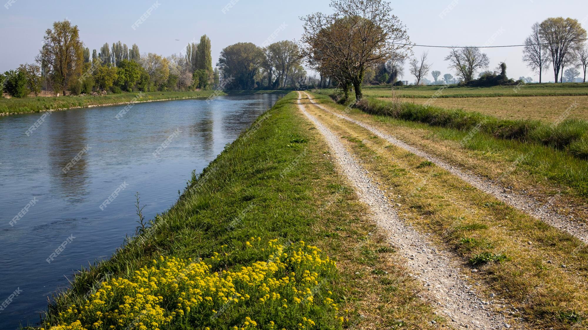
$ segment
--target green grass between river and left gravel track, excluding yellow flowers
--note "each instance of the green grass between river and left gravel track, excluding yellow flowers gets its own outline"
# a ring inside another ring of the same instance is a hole
[[[399,319],[412,328],[433,328],[432,319],[443,324],[433,308],[417,298],[422,290],[419,282],[390,261],[394,250],[377,234],[376,225],[364,215],[365,206],[325,157],[328,146],[298,113],[295,99],[296,93],[281,99],[202,174],[193,173],[178,202],[156,215],[143,233],[128,238],[110,260],[82,270],[71,289],[49,306],[46,324],[58,323],[59,312],[72,304],[83,304],[101,279],[131,278],[159,256],[202,258],[213,271],[234,271],[268,260],[266,252],[247,247],[250,237],[261,242],[277,239],[283,245],[305,241],[336,260],[338,272],[327,278],[320,292],[332,290],[331,298],[340,306],[337,314],[345,321],[343,325],[325,321],[325,328],[352,327],[359,321],[368,327],[391,328]],[[288,147],[292,143],[300,147]],[[382,267],[386,272],[372,272]],[[315,312],[320,319],[322,310]],[[362,319],[359,313],[369,316]],[[246,304],[227,308],[216,325],[243,326],[246,316],[262,318],[258,308]],[[298,316],[283,314],[274,321],[278,329],[290,328],[294,317]],[[169,328],[202,325],[188,322]]]

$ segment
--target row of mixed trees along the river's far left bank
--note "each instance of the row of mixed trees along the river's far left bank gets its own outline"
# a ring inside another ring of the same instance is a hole
[[[90,53],[79,39],[78,26],[69,21],[55,22],[47,29],[36,56],[37,64],[19,66],[0,74],[0,95],[12,97],[38,95],[52,90],[54,95],[81,95],[168,90],[211,89],[219,85],[220,73],[212,68],[211,41],[203,35],[190,43],[186,55],[167,58],[156,53],[141,53],[133,44],[105,43]],[[3,90],[4,89],[4,90]]]

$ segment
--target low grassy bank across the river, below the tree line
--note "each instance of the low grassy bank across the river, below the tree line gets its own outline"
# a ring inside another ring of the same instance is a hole
[[[218,93],[218,92],[216,92]],[[101,106],[129,103],[139,93],[121,93],[99,96],[59,96],[59,97],[12,97],[0,98],[0,114],[41,112],[44,110],[71,109],[75,107]],[[208,97],[215,94],[213,90],[201,92],[146,92],[136,102],[168,99],[185,99]]]

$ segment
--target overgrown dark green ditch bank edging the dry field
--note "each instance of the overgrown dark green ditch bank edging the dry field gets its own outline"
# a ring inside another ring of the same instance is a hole
[[[562,109],[560,120],[550,124],[529,119],[499,119],[479,112],[400,102],[398,99],[389,101],[365,97],[356,106],[374,115],[463,131],[476,129],[500,139],[541,143],[565,150],[579,159],[588,159],[588,122],[567,118],[577,107],[574,103]]]

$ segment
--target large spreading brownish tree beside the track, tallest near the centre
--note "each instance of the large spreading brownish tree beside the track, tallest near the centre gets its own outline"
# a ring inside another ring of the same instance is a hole
[[[303,54],[344,90],[351,83],[360,100],[366,66],[385,63],[393,56],[406,57],[410,49],[406,28],[390,15],[392,8],[384,0],[332,0],[330,6],[335,14],[303,18]]]

